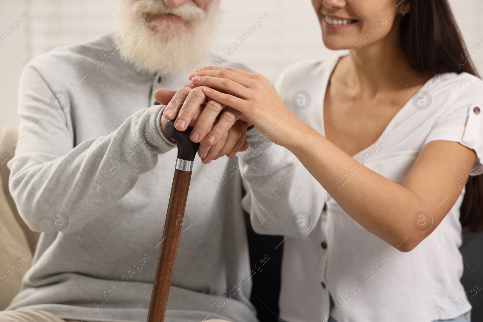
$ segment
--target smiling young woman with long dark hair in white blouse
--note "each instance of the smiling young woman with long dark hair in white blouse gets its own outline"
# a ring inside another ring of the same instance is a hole
[[[332,299],[329,321],[469,321],[459,220],[483,228],[483,82],[451,8],[445,0],[312,2],[324,44],[346,56],[298,62],[276,90],[241,70],[189,76],[297,156],[326,191],[313,200],[325,197],[320,220],[284,252],[280,316],[327,321],[318,287]],[[249,185],[260,185],[249,170]],[[303,194],[297,184],[294,198]],[[302,226],[313,218],[297,216]]]

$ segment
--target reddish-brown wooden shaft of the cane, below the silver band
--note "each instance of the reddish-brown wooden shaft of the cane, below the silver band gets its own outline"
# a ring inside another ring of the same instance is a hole
[[[147,322],[164,321],[190,180],[191,171],[174,170]]]

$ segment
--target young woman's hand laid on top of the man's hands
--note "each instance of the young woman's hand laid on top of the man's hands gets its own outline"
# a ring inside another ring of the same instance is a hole
[[[293,130],[303,123],[262,75],[221,67],[200,67],[195,71],[188,77],[193,84],[203,86],[207,97],[243,113],[274,143],[284,146],[289,141],[295,143]]]

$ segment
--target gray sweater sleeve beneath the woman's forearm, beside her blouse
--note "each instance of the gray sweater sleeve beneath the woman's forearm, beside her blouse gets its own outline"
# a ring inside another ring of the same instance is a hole
[[[317,224],[328,194],[294,154],[255,127],[248,149],[238,152],[246,195],[242,207],[259,234],[307,236]]]

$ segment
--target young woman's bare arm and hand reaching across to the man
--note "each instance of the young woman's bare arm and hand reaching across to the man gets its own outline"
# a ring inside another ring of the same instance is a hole
[[[364,167],[300,121],[263,76],[215,67],[197,76],[192,82],[210,86],[204,88],[208,97],[239,110],[270,140],[290,150],[355,221],[403,252],[426,238],[453,207],[466,183],[461,176],[467,178],[476,158],[473,150],[457,142],[430,142],[400,185]],[[335,182],[345,171],[354,174],[340,186]],[[423,232],[417,224],[425,216],[432,224]]]

